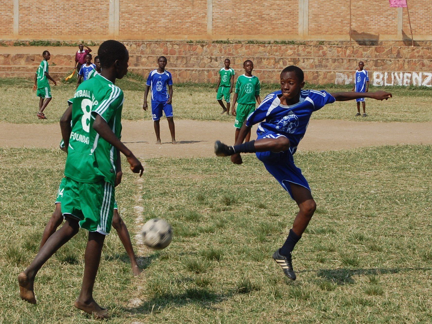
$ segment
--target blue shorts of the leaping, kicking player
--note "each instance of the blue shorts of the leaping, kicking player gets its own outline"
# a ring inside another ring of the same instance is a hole
[[[267,134],[267,133],[266,133]],[[273,134],[278,137],[277,135],[280,134]],[[283,135],[280,135],[283,136]],[[258,136],[258,139],[262,137]],[[292,157],[291,151],[282,151],[282,152],[256,152],[257,158],[264,163],[264,166],[266,167],[267,171],[273,175],[273,177],[279,181],[280,185],[288,191],[289,195],[292,199],[292,191],[291,191],[291,185],[293,184],[299,184],[302,187],[305,187],[309,191],[311,191],[311,188],[309,187],[308,181],[306,178],[302,175],[302,170],[297,168],[294,164],[294,158]]]

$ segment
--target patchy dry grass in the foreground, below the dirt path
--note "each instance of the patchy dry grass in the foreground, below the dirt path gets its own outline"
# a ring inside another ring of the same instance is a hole
[[[64,154],[0,149],[0,322],[71,323],[83,273],[85,232],[39,272],[38,305],[19,299],[16,275],[34,257],[52,211]],[[143,182],[125,172],[120,210],[131,232],[136,195],[143,217],[174,229],[164,251],[140,255],[132,278],[109,235],[95,298],[111,323],[430,322],[432,318],[432,146],[299,152],[318,209],[294,251],[298,280],[285,280],[271,254],[295,203],[249,155],[149,159]],[[155,176],[158,175],[158,176]]]

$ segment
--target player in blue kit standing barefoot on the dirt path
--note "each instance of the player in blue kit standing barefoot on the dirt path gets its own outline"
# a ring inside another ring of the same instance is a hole
[[[152,70],[150,72],[146,82],[146,90],[144,92],[143,109],[147,110],[147,95],[149,94],[149,89],[151,87],[152,116],[156,133],[156,144],[161,143],[159,121],[162,117],[162,111],[165,112],[165,117],[168,121],[172,143],[177,144],[175,141],[175,126],[172,114],[172,76],[171,73],[165,71],[166,63],[167,60],[165,56],[159,57],[159,67],[156,70]]]

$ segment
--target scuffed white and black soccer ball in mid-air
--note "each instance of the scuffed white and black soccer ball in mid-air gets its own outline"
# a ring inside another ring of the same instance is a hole
[[[145,245],[155,250],[161,250],[171,243],[172,228],[163,219],[153,218],[144,224],[141,235],[143,235]]]

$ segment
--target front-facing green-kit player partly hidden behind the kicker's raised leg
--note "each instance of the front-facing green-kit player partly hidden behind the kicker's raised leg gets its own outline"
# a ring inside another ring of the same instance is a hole
[[[237,78],[235,83],[235,95],[232,101],[232,114],[235,116],[235,141],[237,141],[240,128],[243,126],[246,117],[255,111],[255,101],[258,105],[261,103],[260,99],[260,80],[252,75],[254,64],[251,60],[243,62],[245,74]],[[235,110],[235,103],[237,102],[237,110]],[[251,139],[251,131],[249,130],[246,136],[246,142]]]

